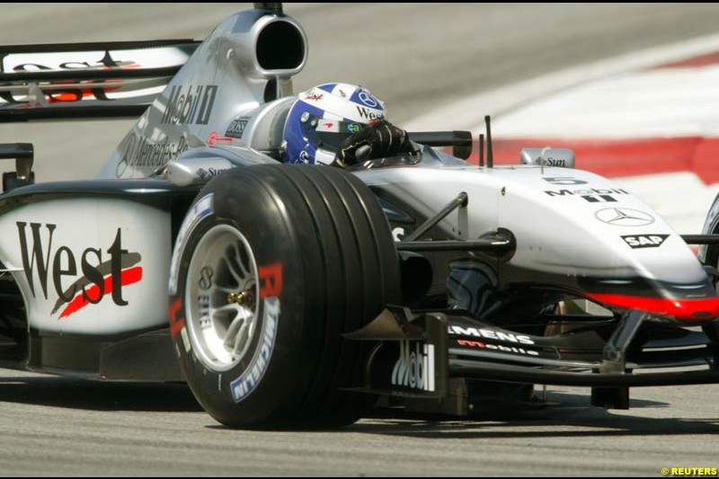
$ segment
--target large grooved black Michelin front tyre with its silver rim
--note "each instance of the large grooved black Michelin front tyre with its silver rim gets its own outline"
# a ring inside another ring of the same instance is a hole
[[[171,333],[200,404],[232,427],[355,421],[362,350],[342,338],[400,290],[386,217],[368,187],[329,167],[221,174],[178,233]]]

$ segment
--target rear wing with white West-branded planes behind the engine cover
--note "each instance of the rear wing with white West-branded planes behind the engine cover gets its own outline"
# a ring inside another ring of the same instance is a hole
[[[0,47],[0,122],[137,117],[196,40]]]

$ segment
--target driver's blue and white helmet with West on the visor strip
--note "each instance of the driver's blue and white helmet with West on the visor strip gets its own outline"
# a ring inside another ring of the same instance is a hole
[[[332,164],[345,138],[385,118],[382,102],[355,84],[320,84],[297,96],[285,122],[285,163]]]

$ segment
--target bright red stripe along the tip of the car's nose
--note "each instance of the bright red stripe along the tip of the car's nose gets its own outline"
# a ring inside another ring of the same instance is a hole
[[[685,321],[710,321],[719,316],[719,297],[668,299],[604,293],[591,293],[587,297],[604,305],[639,309]]]

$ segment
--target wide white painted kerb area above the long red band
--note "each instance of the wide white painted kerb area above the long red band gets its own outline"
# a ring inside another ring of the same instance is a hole
[[[716,137],[719,64],[653,68],[577,85],[495,121],[497,137]]]

